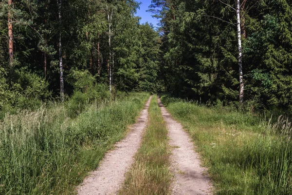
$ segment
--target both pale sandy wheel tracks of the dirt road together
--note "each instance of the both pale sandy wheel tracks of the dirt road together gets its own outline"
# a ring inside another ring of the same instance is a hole
[[[115,195],[125,180],[125,173],[133,162],[143,131],[148,121],[150,97],[127,137],[115,144],[115,149],[106,154],[99,167],[86,177],[77,188],[78,195]],[[167,123],[168,136],[172,146],[171,171],[174,173],[172,195],[211,195],[212,184],[200,166],[198,154],[189,135],[183,131],[158,99],[162,115]]]

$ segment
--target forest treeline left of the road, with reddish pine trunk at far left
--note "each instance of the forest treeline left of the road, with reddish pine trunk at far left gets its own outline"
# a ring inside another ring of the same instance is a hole
[[[134,0],[2,0],[1,107],[63,99],[89,83],[156,91],[159,35],[139,23],[138,7]]]

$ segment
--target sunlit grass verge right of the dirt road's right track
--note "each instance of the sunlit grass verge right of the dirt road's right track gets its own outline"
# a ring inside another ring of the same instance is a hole
[[[228,107],[163,101],[198,146],[216,194],[292,194],[292,142],[267,122]]]

